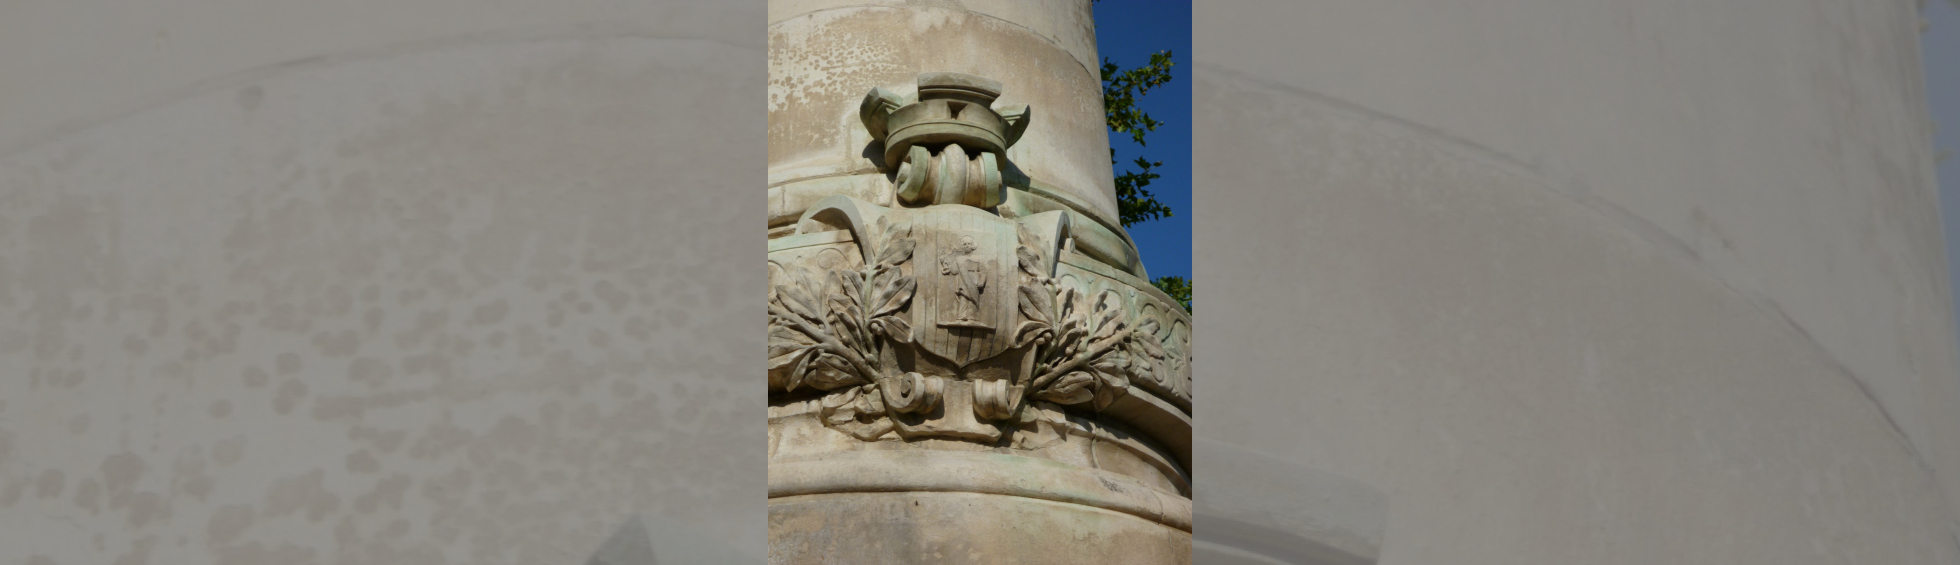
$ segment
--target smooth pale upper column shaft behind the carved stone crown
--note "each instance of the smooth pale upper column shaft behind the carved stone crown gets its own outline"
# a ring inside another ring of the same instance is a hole
[[[913,96],[919,73],[951,71],[1004,84],[1004,108],[1041,112],[1002,155],[1004,182],[1039,184],[1119,231],[1088,2],[770,2],[770,188],[888,173],[857,120],[864,92]]]

